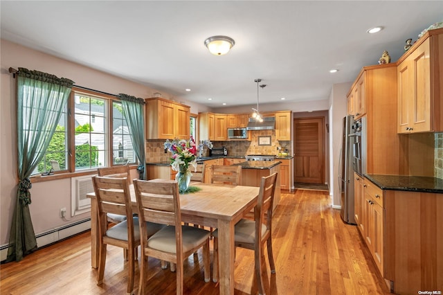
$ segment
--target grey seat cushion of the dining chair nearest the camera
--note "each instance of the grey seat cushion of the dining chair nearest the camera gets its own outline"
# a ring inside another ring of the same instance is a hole
[[[209,238],[210,232],[192,226],[181,226],[183,252],[197,247]],[[175,226],[165,226],[147,240],[147,247],[169,253],[177,253],[175,244]]]

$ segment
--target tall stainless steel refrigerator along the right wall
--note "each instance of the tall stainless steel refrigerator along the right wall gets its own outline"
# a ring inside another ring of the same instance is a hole
[[[353,116],[343,118],[343,140],[338,171],[338,185],[341,195],[341,218],[348,224],[355,224],[354,218],[354,168],[352,160],[354,155],[352,147],[355,136],[352,130]]]

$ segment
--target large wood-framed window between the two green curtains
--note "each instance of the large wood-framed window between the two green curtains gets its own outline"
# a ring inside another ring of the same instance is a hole
[[[35,173],[51,168],[75,172],[136,163],[119,100],[74,88],[70,100],[71,111],[66,106]],[[73,114],[71,121],[68,114]]]

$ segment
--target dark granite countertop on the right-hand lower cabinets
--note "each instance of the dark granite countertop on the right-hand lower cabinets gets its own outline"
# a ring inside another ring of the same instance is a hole
[[[443,194],[443,179],[407,175],[364,175],[382,190]]]

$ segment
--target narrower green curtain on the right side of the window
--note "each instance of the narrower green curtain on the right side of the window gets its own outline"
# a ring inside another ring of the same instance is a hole
[[[146,157],[145,157],[145,123],[143,120],[143,98],[128,96],[120,93],[122,100],[123,116],[125,116],[127,125],[131,130],[132,145],[138,159],[138,173],[140,179],[146,179]]]

